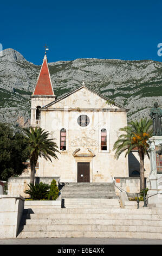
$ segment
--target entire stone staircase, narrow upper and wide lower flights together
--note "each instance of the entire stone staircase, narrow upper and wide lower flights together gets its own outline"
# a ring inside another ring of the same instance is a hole
[[[113,184],[62,184],[64,208],[25,205],[17,238],[162,239],[162,209],[122,209]]]

